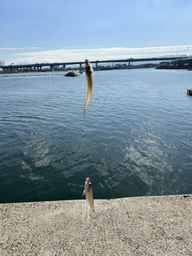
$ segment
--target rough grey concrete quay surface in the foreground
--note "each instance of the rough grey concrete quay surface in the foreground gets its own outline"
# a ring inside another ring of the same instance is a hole
[[[192,255],[192,195],[0,204],[0,256]]]

